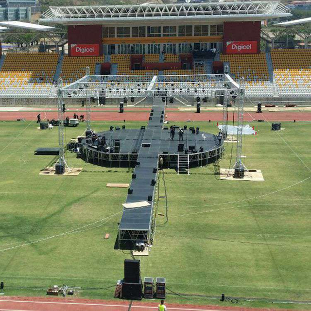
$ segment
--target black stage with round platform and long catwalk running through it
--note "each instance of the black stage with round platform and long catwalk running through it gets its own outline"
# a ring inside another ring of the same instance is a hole
[[[119,225],[119,246],[125,241],[150,243],[153,235],[153,207],[159,157],[163,167],[175,168],[184,173],[190,167],[202,166],[221,157],[224,142],[215,135],[197,128],[184,129],[179,141],[176,124],[174,140],[170,139],[169,126],[164,124],[165,103],[154,99],[148,125],[141,129],[112,129],[84,138],[80,156],[87,163],[108,167],[135,167],[126,203],[146,202],[143,207],[124,208]],[[166,128],[167,127],[167,128]],[[182,146],[180,146],[180,144]]]

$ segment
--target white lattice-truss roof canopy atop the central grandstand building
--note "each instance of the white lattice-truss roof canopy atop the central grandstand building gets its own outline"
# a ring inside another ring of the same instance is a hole
[[[57,6],[42,14],[40,21],[64,25],[141,22],[247,21],[291,16],[279,1],[236,1],[146,5]]]

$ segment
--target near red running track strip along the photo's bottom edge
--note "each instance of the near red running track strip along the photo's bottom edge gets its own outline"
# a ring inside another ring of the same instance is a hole
[[[156,311],[157,305],[157,303],[129,302],[119,299],[107,301],[54,297],[0,297],[0,311]],[[167,304],[167,308],[168,311],[276,311],[275,309],[177,304]]]

